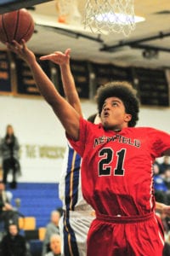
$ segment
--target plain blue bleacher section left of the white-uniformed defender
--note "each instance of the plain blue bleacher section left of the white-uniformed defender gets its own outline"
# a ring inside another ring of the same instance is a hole
[[[6,189],[13,194],[13,206],[20,198],[19,212],[36,218],[37,228],[46,226],[50,213],[62,206],[57,183],[18,183],[17,189],[9,189],[8,185]]]

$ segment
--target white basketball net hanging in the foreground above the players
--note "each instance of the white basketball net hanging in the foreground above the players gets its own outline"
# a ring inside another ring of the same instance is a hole
[[[133,0],[87,0],[83,23],[94,33],[106,30],[128,36],[135,28]]]

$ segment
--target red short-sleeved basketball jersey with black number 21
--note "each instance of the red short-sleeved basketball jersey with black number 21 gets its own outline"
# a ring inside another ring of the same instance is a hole
[[[155,208],[152,163],[170,148],[170,136],[149,127],[105,131],[80,119],[73,148],[82,156],[82,194],[96,212],[144,215]]]

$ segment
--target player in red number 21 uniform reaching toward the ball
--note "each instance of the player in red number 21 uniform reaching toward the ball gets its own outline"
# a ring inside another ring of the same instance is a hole
[[[7,44],[31,67],[37,88],[82,156],[82,193],[96,213],[88,232],[88,256],[161,256],[164,238],[155,214],[152,163],[170,155],[170,136],[137,127],[139,100],[131,84],[98,90],[101,119],[94,125],[59,95],[24,41]]]

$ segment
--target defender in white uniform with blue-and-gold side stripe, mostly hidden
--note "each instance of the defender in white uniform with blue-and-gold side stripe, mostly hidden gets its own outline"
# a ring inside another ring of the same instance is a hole
[[[75,81],[71,74],[70,52],[56,51],[54,54],[42,56],[41,60],[50,60],[58,64],[67,101],[82,116],[80,99]],[[93,121],[93,120],[92,120]],[[82,197],[81,168],[82,158],[68,143],[64,168],[59,181],[59,198],[63,202],[64,216],[61,218],[60,235],[63,236],[65,256],[86,256],[89,226],[94,219],[92,207]]]

